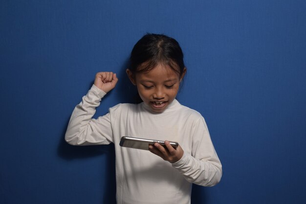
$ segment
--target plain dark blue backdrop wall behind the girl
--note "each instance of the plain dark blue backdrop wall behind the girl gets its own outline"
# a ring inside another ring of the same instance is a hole
[[[192,203],[305,204],[305,11],[304,0],[2,0],[0,203],[115,203],[113,145],[64,135],[98,71],[119,82],[95,117],[132,101],[129,54],[153,32],[180,43],[178,99],[205,117],[223,165]]]

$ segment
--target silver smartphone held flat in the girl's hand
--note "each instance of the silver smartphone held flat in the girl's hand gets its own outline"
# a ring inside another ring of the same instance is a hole
[[[165,146],[164,141],[160,140],[153,140],[153,139],[144,139],[144,138],[137,138],[137,137],[130,137],[130,136],[123,136],[120,140],[121,147],[130,147],[135,149],[141,150],[149,150],[149,145],[154,145],[157,142],[163,146]],[[170,142],[170,144],[176,149],[178,147],[177,142]]]

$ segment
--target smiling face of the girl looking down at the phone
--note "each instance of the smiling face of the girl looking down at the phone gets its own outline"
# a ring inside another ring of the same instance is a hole
[[[138,93],[145,104],[155,113],[163,112],[175,99],[179,89],[179,74],[172,68],[159,64],[147,73],[136,73],[132,76],[127,69],[131,82],[137,86]]]

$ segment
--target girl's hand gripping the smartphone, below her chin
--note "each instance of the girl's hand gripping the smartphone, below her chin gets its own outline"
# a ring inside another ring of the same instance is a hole
[[[165,141],[165,145],[164,147],[155,142],[154,146],[149,145],[149,151],[170,163],[175,163],[183,157],[184,151],[180,145],[175,149],[167,140]]]

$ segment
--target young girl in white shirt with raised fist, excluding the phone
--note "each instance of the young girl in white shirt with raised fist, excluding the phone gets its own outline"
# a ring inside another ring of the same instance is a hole
[[[99,72],[74,109],[65,139],[71,145],[114,143],[117,204],[190,204],[192,183],[216,185],[222,169],[204,118],[175,99],[186,73],[182,50],[173,38],[147,34],[130,60],[126,72],[143,102],[118,104],[92,119],[118,82],[115,73]],[[166,146],[121,147],[122,136],[165,140]]]

